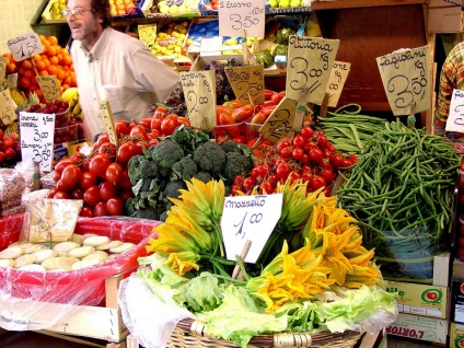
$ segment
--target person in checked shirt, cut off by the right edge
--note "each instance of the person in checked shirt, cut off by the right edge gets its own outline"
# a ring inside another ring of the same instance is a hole
[[[455,45],[441,67],[440,84],[434,114],[434,134],[444,135],[444,127],[450,114],[453,90],[464,90],[464,42]],[[449,137],[456,141],[463,134],[450,132]]]

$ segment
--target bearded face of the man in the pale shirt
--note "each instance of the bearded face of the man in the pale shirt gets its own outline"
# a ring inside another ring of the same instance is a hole
[[[102,27],[101,21],[91,10],[91,0],[69,0],[67,10],[71,11],[67,21],[72,38],[81,40],[85,46],[93,46]]]

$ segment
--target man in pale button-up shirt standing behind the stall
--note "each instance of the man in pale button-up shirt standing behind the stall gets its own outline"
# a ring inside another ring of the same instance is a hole
[[[140,119],[164,102],[179,80],[137,38],[111,27],[108,0],[69,0],[62,11],[73,38],[71,57],[88,136],[104,132],[98,101],[107,100],[115,120]]]

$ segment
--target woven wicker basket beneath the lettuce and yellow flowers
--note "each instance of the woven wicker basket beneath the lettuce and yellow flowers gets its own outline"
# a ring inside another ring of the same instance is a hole
[[[326,347],[326,348],[352,348],[361,338],[361,334],[345,332],[341,334],[320,333],[276,333],[258,335],[251,339],[251,348],[269,347]],[[240,347],[232,341],[216,339],[205,335],[205,325],[193,320],[181,321],[171,335],[167,348],[184,347]]]

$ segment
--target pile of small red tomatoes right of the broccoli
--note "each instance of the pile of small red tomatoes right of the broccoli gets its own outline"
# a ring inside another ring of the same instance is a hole
[[[231,194],[251,194],[257,185],[259,194],[271,194],[278,183],[283,184],[290,178],[291,182],[301,179],[308,183],[308,193],[325,187],[325,194],[329,196],[338,171],[357,161],[355,154],[344,155],[336,151],[324,131],[304,126],[293,138],[262,147],[260,159],[254,163],[251,174],[236,176]]]

